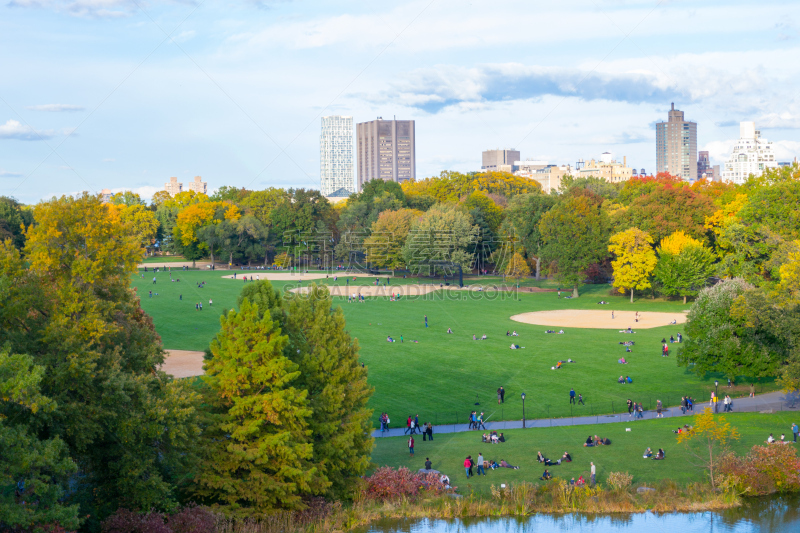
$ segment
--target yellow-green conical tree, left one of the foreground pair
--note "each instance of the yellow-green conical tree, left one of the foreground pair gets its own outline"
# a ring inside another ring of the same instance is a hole
[[[318,474],[288,337],[246,298],[220,326],[204,365],[204,460],[192,490],[236,515],[299,508]]]

